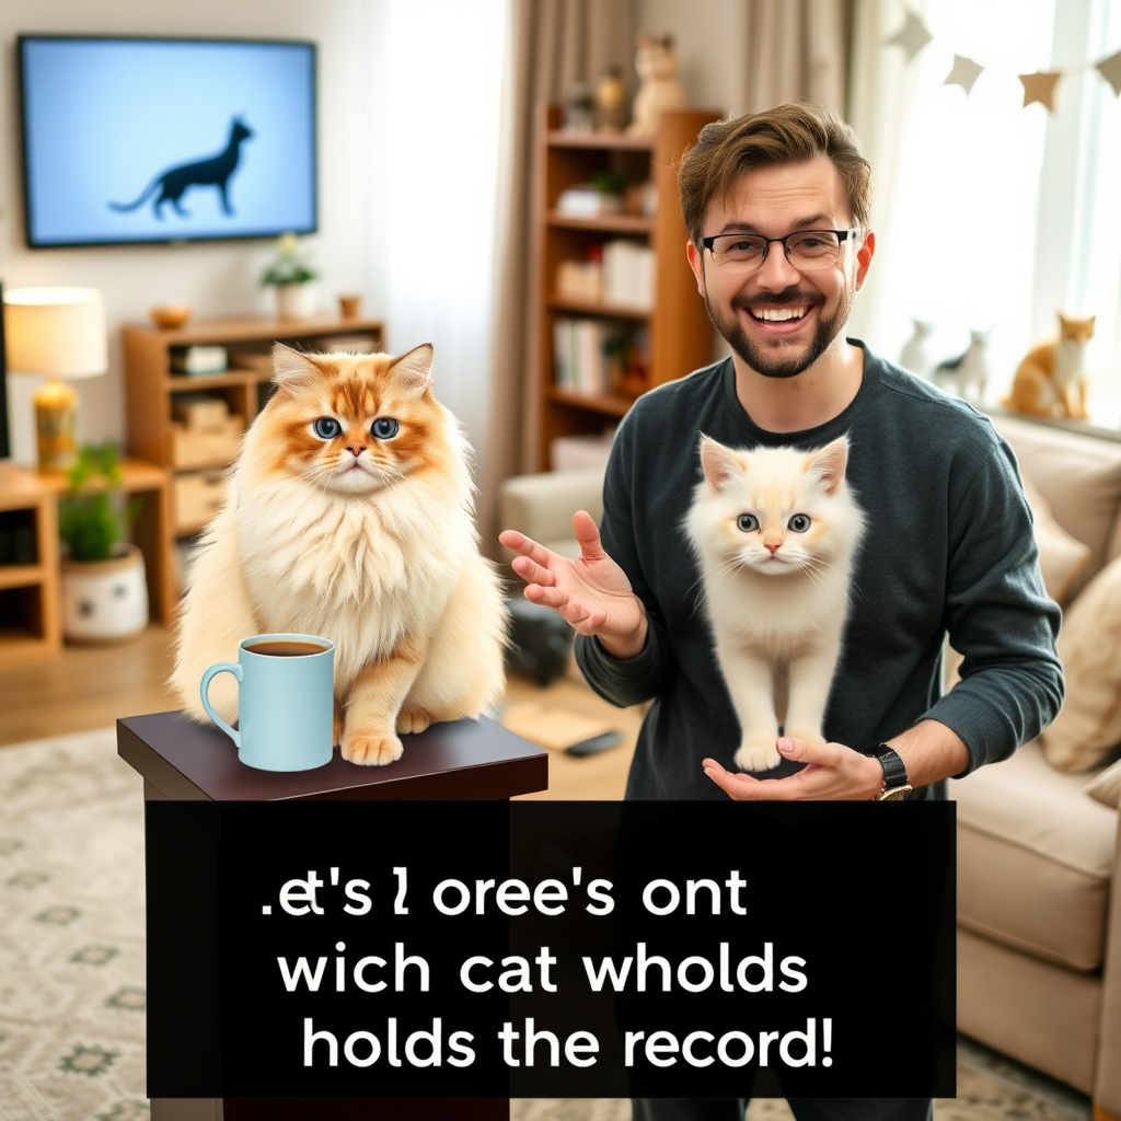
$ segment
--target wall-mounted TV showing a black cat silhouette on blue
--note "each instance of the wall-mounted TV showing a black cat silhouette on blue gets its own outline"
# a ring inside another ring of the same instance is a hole
[[[315,45],[18,37],[33,249],[316,229]]]

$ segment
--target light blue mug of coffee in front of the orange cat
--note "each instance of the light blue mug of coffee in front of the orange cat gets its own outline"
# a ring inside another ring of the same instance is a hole
[[[211,707],[211,678],[238,679],[238,726]],[[238,643],[238,660],[219,661],[198,684],[211,720],[259,770],[311,770],[331,761],[334,739],[335,645],[317,634],[254,634]]]

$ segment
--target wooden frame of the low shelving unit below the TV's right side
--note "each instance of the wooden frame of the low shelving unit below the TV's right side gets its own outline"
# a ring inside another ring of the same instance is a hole
[[[126,326],[124,380],[128,447],[132,455],[170,472],[172,529],[168,548],[177,538],[197,534],[210,520],[221,494],[229,456],[213,462],[176,462],[173,411],[179,395],[198,395],[224,401],[231,416],[249,425],[268,399],[272,368],[269,351],[282,342],[297,350],[330,351],[343,344],[363,349],[385,346],[379,319],[238,318],[200,322],[175,330]],[[192,346],[221,346],[228,355],[222,372],[182,374],[175,359]],[[169,564],[175,568],[175,565]]]

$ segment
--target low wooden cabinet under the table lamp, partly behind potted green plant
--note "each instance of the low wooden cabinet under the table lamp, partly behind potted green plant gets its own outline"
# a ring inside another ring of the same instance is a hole
[[[121,490],[141,499],[129,536],[145,558],[154,619],[170,622],[176,589],[168,563],[167,472],[124,460]],[[62,649],[58,499],[65,475],[0,464],[0,666],[50,657]]]

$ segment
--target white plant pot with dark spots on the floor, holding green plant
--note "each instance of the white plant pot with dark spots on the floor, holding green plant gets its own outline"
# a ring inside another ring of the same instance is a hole
[[[148,626],[143,554],[128,543],[108,560],[63,559],[63,633],[78,642],[113,642]]]

